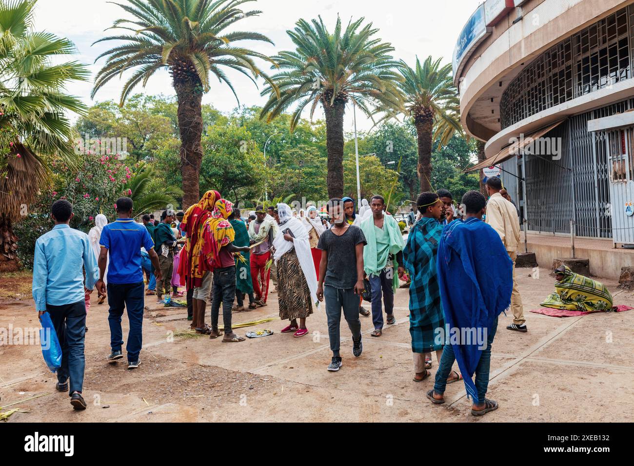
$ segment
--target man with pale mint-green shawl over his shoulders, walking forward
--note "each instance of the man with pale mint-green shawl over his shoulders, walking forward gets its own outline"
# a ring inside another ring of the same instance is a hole
[[[372,216],[363,219],[359,228],[368,244],[363,248],[363,271],[372,288],[373,337],[383,331],[383,309],[385,304],[387,323],[396,323],[394,317],[394,292],[398,288],[398,277],[403,275],[403,248],[405,243],[401,229],[391,215],[385,215],[385,200],[375,195],[370,199]],[[398,273],[396,271],[398,270]]]

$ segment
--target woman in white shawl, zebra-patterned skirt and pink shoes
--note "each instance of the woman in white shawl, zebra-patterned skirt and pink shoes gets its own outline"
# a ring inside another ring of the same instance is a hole
[[[280,319],[290,320],[281,333],[295,332],[294,337],[302,337],[308,333],[306,318],[318,303],[317,275],[306,226],[293,216],[287,204],[278,204],[278,216],[280,228],[273,240],[273,259],[278,268]]]

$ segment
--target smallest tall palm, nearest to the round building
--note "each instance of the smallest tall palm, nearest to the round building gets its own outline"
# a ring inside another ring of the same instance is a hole
[[[460,99],[453,86],[451,65],[441,66],[431,56],[421,65],[416,58],[416,69],[401,61],[403,81],[398,86],[404,94],[405,107],[412,117],[418,139],[418,179],[420,190],[430,191],[432,172],[432,143],[446,145],[460,126]]]

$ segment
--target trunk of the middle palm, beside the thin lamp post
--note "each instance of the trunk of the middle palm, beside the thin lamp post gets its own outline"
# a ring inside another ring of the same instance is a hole
[[[326,149],[328,151],[328,197],[344,195],[344,112],[346,102],[335,100],[324,101],[326,114]]]

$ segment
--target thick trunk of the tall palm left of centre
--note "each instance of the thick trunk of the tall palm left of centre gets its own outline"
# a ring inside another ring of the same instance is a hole
[[[200,164],[202,162],[202,90],[192,76],[174,78],[178,97],[178,129],[181,134],[181,176],[183,177],[183,209],[200,200]]]

